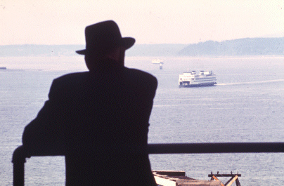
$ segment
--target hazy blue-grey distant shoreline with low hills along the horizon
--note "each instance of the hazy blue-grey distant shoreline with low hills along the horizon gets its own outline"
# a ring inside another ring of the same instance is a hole
[[[85,45],[3,45],[0,57],[15,56],[75,56]],[[127,56],[266,56],[284,55],[284,37],[245,38],[228,41],[205,41],[198,44],[135,44]]]

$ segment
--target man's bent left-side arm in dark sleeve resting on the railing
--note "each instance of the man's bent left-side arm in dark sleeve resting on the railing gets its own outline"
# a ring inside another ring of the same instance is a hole
[[[37,117],[25,126],[22,144],[25,149],[34,153],[58,152],[64,149],[64,131],[62,104],[58,94],[58,86],[53,81],[49,100],[41,108]]]

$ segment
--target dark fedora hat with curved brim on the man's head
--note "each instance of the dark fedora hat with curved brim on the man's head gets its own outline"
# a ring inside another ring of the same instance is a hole
[[[128,49],[135,43],[135,39],[132,37],[122,37],[119,27],[112,20],[87,26],[85,37],[86,49],[76,51],[76,53],[105,55],[119,46]]]

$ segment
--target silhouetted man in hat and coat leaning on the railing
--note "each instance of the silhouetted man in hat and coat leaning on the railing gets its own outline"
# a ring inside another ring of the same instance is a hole
[[[85,29],[89,72],[53,80],[49,100],[25,127],[27,152],[63,152],[66,185],[156,185],[146,152],[157,79],[124,67],[125,50],[113,21]]]

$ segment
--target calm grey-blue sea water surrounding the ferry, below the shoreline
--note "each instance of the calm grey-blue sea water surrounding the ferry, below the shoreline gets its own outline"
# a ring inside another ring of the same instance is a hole
[[[283,142],[284,57],[126,58],[159,81],[150,117],[149,143]],[[85,71],[84,58],[0,58],[0,185],[12,185],[13,150],[47,99],[54,78]],[[213,70],[217,86],[179,88],[179,74]],[[284,154],[152,154],[153,170],[186,171],[195,179],[240,173],[241,185],[283,185]],[[226,182],[228,179],[221,179]],[[63,157],[32,157],[26,185],[64,185]]]

